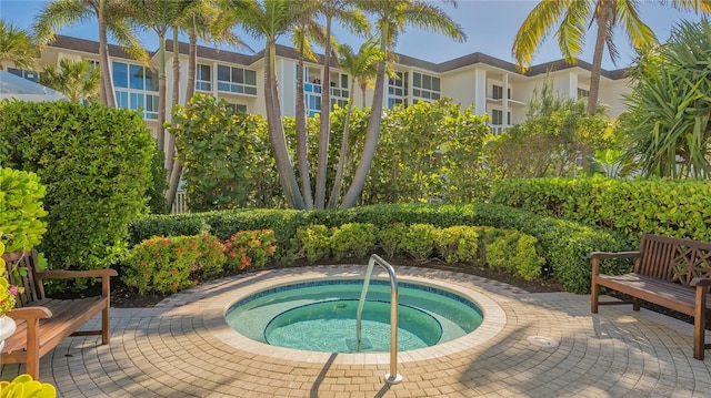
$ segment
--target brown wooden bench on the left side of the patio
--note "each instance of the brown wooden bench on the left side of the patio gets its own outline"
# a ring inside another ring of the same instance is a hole
[[[39,271],[33,251],[6,253],[2,258],[10,284],[24,287],[24,292],[17,297],[17,308],[8,313],[16,320],[17,330],[4,340],[0,364],[26,364],[27,373],[37,380],[40,358],[66,337],[101,335],[101,343],[109,344],[109,279],[117,275],[116,271]],[[18,277],[11,272],[14,267],[24,268],[27,275]],[[44,295],[42,280],[79,277],[101,277],[101,296],[56,299]],[[99,313],[101,329],[78,330]]]

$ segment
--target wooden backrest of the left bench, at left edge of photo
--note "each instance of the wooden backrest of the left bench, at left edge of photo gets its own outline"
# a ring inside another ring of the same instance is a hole
[[[16,297],[17,307],[44,298],[44,287],[41,280],[34,277],[34,273],[39,269],[34,251],[6,253],[2,258],[6,262],[10,285],[24,288]]]

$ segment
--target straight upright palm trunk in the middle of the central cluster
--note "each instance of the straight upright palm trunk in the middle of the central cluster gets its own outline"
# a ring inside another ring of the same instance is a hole
[[[319,165],[316,171],[316,208],[323,210],[326,176],[329,166],[331,136],[331,20],[326,16],[326,49],[323,50],[323,76],[321,79],[321,131],[319,133]]]

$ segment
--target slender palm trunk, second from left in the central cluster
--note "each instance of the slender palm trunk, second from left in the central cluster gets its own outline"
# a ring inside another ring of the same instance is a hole
[[[301,176],[301,191],[306,208],[313,208],[313,197],[311,196],[311,172],[309,170],[309,145],[307,137],[307,110],[303,93],[303,47],[306,32],[301,32],[299,43],[299,67],[297,70],[297,160],[299,161],[299,176]]]

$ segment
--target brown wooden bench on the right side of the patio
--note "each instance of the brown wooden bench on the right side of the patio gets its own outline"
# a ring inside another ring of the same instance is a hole
[[[711,286],[711,243],[644,234],[637,252],[591,253],[591,310],[599,305],[632,304],[640,310],[640,300],[657,304],[694,318],[693,357],[703,360],[705,320],[711,309],[707,300]],[[603,258],[634,258],[634,271],[625,275],[601,275]],[[604,286],[632,298],[600,302],[599,287]]]

